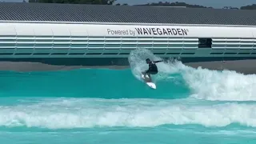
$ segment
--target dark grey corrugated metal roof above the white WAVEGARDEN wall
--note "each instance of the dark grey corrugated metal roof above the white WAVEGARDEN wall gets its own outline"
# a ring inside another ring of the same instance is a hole
[[[256,26],[255,10],[0,2],[0,20]]]

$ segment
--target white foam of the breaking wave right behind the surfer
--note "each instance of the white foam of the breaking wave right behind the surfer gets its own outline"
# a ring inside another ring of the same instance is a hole
[[[192,97],[220,101],[255,101],[256,75],[230,70],[194,69],[181,66],[182,76],[194,93]]]

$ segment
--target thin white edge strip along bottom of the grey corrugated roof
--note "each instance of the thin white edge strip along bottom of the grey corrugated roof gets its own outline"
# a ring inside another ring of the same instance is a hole
[[[250,25],[209,25],[209,24],[177,24],[177,23],[125,23],[125,22],[62,22],[62,21],[6,21],[0,23],[52,23],[52,24],[96,24],[96,25],[141,25],[141,26],[223,26],[223,27],[256,27]]]

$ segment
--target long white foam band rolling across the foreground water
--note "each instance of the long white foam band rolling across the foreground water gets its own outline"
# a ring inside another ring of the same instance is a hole
[[[256,106],[237,103],[197,106],[166,100],[92,98],[0,107],[0,126],[69,129],[165,124],[227,126],[234,122],[255,127]]]

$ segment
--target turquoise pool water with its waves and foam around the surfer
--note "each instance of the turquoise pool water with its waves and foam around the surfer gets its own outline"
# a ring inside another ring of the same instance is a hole
[[[0,73],[0,141],[8,144],[256,142],[256,76],[159,63],[157,90],[130,69]]]

